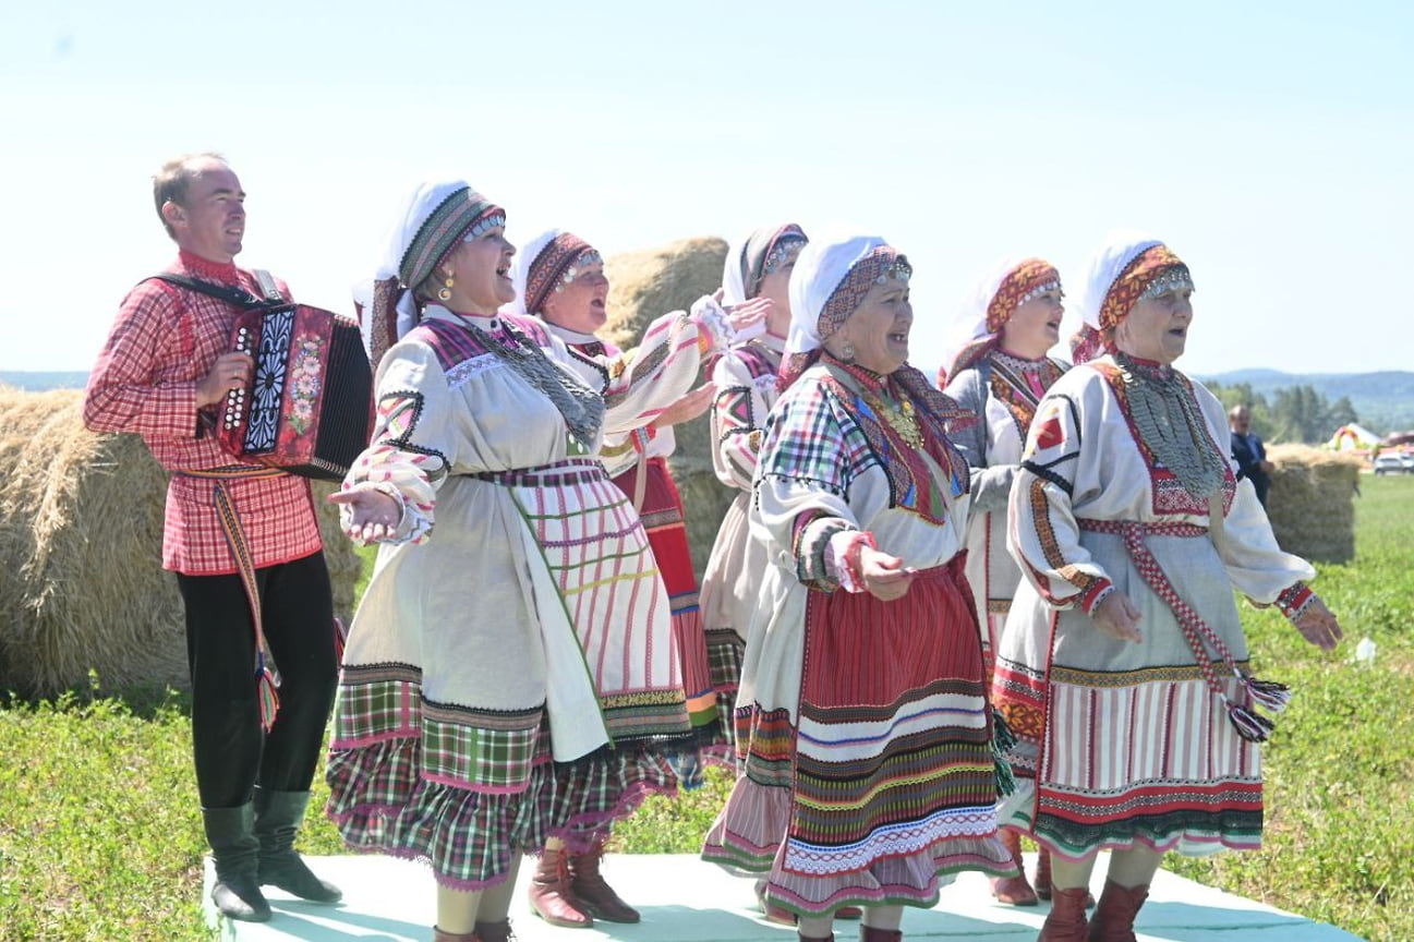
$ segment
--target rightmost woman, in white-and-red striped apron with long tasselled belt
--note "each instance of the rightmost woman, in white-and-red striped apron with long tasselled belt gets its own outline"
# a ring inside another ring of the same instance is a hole
[[[1251,676],[1233,588],[1322,649],[1340,638],[1304,584],[1311,566],[1233,477],[1222,405],[1172,366],[1193,318],[1188,266],[1116,233],[1082,290],[1076,366],[1042,399],[1011,488],[1025,581],[994,682],[1027,777],[1011,823],[1055,853],[1049,941],[1134,939],[1168,850],[1260,846],[1263,711],[1288,693]]]

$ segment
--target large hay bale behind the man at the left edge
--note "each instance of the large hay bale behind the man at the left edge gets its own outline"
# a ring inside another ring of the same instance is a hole
[[[89,669],[106,689],[185,687],[181,597],[161,569],[167,474],[137,436],[88,431],[78,390],[0,388],[0,690],[54,696]],[[320,516],[346,618],[359,560],[332,508]]]

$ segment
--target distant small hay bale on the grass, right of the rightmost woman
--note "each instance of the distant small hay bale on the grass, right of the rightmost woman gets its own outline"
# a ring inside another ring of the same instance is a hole
[[[1302,444],[1267,450],[1275,465],[1267,516],[1281,549],[1321,563],[1355,559],[1355,494],[1360,461]]]

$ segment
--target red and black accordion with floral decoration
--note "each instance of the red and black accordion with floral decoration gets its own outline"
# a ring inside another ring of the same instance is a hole
[[[243,461],[341,479],[373,434],[373,372],[358,324],[305,304],[259,307],[232,328],[256,362],[249,388],[226,393],[216,434]]]

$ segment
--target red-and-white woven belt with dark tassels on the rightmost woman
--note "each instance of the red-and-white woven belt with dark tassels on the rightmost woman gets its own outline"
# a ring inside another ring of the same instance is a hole
[[[1203,621],[1202,615],[1179,597],[1178,590],[1174,588],[1174,583],[1168,580],[1164,569],[1154,559],[1154,553],[1144,543],[1144,537],[1147,536],[1206,536],[1208,528],[1198,526],[1196,523],[1141,523],[1138,521],[1077,519],[1076,523],[1082,530],[1116,533],[1124,539],[1124,546],[1130,552],[1130,559],[1140,578],[1174,612],[1174,618],[1184,631],[1184,638],[1188,641],[1189,651],[1193,652],[1193,659],[1198,662],[1198,669],[1202,672],[1203,680],[1227,704],[1227,719],[1237,730],[1237,734],[1251,743],[1264,743],[1274,726],[1271,720],[1258,714],[1253,707],[1260,704],[1273,713],[1280,713],[1291,699],[1291,690],[1282,683],[1258,680],[1250,675],[1244,675],[1237,668],[1237,659],[1233,656],[1233,652],[1219,634]],[[1233,676],[1237,678],[1237,682],[1247,694],[1247,703],[1233,703],[1217,683],[1213,658],[1208,655],[1205,642],[1217,652],[1219,662],[1226,663]]]

